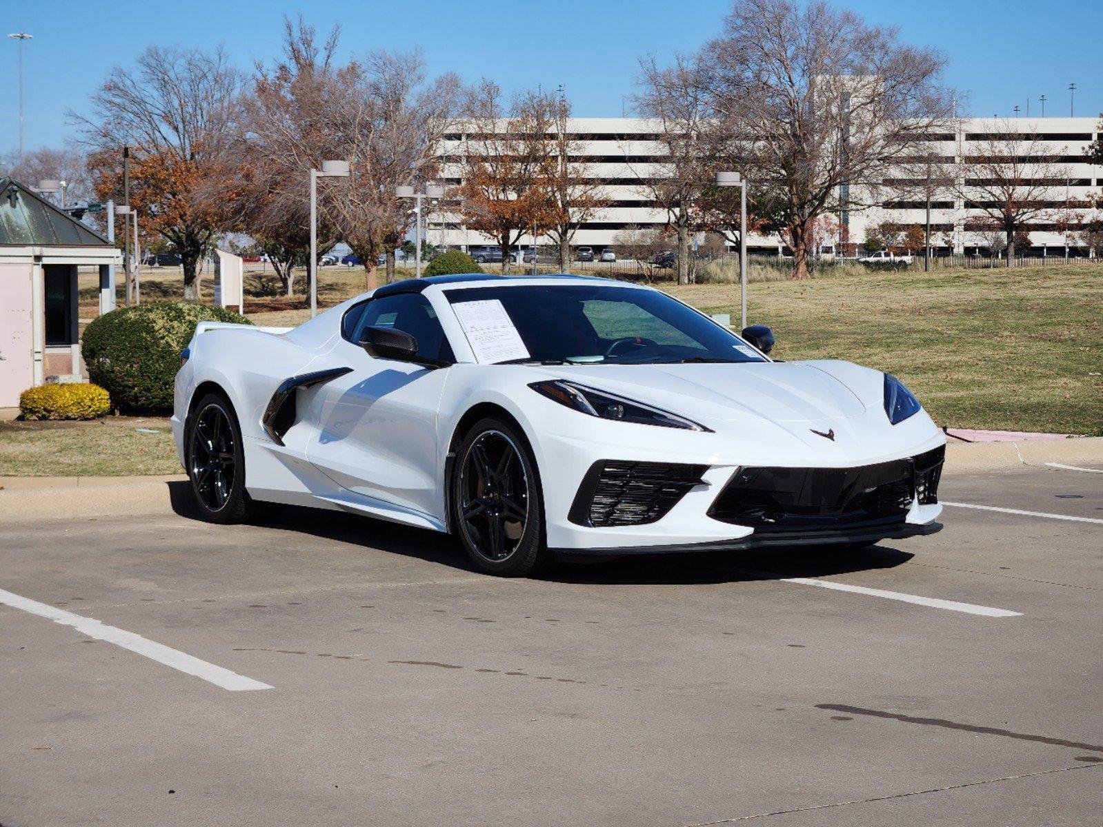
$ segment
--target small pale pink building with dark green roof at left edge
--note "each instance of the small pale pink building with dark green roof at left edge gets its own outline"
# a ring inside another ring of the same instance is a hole
[[[0,408],[50,377],[82,374],[78,268],[98,268],[99,312],[115,307],[110,241],[40,197],[0,179]],[[95,272],[96,270],[94,270]]]

